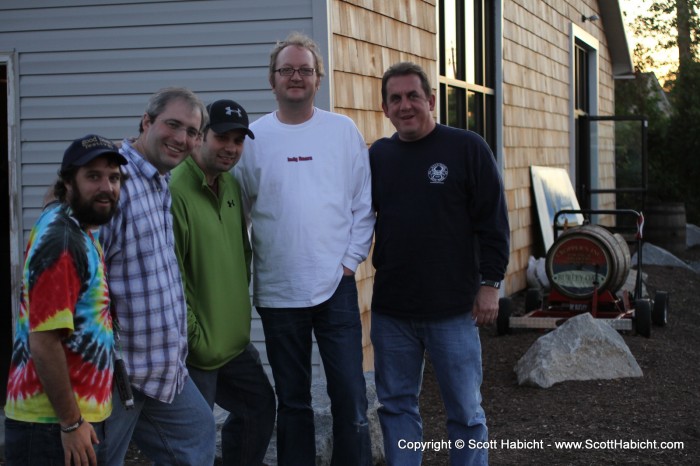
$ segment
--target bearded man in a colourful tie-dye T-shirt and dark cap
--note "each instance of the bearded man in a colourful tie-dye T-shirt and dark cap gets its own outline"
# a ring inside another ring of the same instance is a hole
[[[96,228],[109,221],[127,163],[87,135],[63,155],[32,228],[5,406],[8,465],[97,464],[112,411],[114,337]]]

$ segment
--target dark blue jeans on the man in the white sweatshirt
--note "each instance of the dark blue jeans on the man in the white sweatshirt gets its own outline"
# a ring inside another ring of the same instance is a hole
[[[280,466],[316,464],[311,407],[311,348],[316,335],[333,415],[332,465],[371,462],[362,325],[355,277],[343,277],[331,298],[309,308],[258,308],[277,392]]]

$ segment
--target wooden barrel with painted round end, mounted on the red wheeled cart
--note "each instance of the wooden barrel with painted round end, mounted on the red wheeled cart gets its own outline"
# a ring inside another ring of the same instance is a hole
[[[561,233],[547,251],[545,271],[551,286],[573,299],[598,291],[617,292],[631,266],[625,239],[599,225],[583,225]]]

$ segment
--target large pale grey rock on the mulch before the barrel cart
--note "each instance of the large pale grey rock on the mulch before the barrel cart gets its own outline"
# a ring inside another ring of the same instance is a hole
[[[585,313],[540,337],[515,365],[520,385],[548,388],[566,380],[641,377],[619,333]]]

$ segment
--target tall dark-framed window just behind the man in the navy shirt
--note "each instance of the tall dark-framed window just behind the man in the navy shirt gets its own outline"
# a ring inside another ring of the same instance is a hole
[[[495,0],[440,0],[440,122],[495,153]]]

